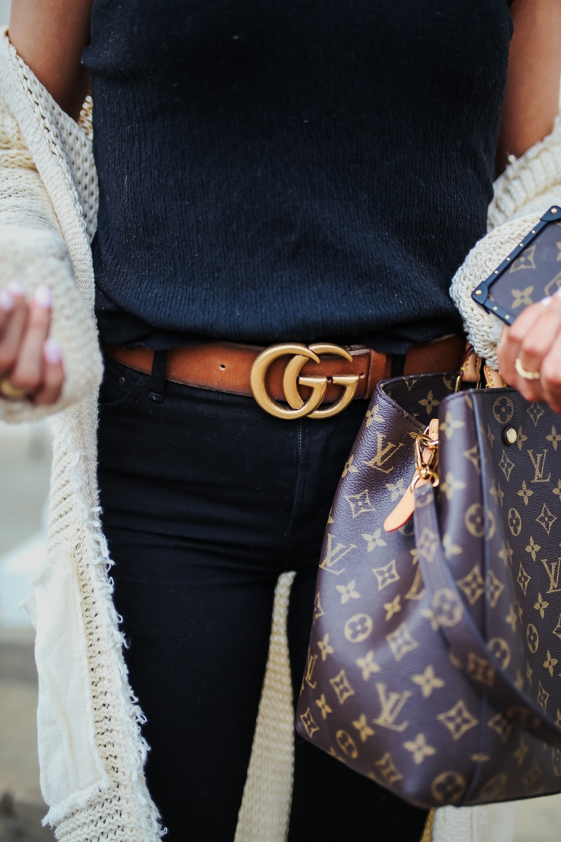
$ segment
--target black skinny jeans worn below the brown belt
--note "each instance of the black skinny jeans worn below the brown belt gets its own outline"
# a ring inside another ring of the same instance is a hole
[[[148,719],[148,786],[169,842],[232,842],[267,662],[273,592],[295,570],[297,697],[336,484],[367,403],[287,422],[250,397],[106,360],[103,529],[130,683]],[[426,813],[296,737],[289,842],[419,842]]]

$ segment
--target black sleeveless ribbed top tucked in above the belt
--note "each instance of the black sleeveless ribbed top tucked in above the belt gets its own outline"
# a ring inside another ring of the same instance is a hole
[[[511,31],[506,0],[95,0],[102,338],[461,330]]]

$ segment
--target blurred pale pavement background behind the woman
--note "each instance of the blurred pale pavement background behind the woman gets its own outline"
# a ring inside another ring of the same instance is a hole
[[[0,25],[8,24],[9,7],[10,0],[0,0]],[[46,808],[37,763],[33,629],[17,607],[45,556],[49,473],[49,423],[0,422],[0,842],[54,839],[40,825]],[[561,842],[561,795],[516,805],[515,842]]]

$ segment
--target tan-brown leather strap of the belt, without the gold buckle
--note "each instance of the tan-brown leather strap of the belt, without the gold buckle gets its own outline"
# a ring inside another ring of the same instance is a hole
[[[426,345],[413,346],[405,360],[405,375],[430,374],[435,371],[456,371],[462,363],[465,339],[462,336],[447,336]],[[325,402],[341,397],[341,386],[329,378],[334,375],[358,375],[355,398],[369,400],[380,380],[391,376],[391,354],[383,354],[364,346],[347,345],[352,361],[334,354],[325,354],[320,363],[307,362],[301,374],[304,376],[325,376],[328,378]],[[167,356],[166,379],[213,392],[230,392],[251,396],[251,366],[263,349],[255,345],[233,342],[209,342],[203,345],[188,345],[172,348]],[[150,374],[154,351],[149,348],[122,348],[119,345],[104,345],[103,351],[112,360],[127,365],[135,371]],[[288,358],[274,360],[267,371],[267,391],[277,401],[284,401],[283,374]],[[306,386],[299,387],[306,399]]]

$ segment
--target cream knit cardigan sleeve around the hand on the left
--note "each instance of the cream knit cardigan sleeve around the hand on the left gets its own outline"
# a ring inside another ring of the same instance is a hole
[[[92,302],[77,288],[60,221],[18,122],[0,95],[0,289],[11,282],[23,286],[28,296],[38,285],[50,287],[50,335],[61,345],[65,369],[62,394],[53,406],[0,399],[0,418],[13,422],[79,402],[98,386],[103,366]]]

